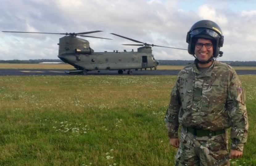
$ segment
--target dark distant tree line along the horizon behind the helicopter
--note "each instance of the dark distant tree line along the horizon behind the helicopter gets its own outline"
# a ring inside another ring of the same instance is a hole
[[[184,66],[193,63],[194,61],[187,60],[158,60],[159,65],[174,65],[174,66]],[[63,62],[60,59],[30,59],[30,60],[0,60],[0,63],[26,63],[35,64],[41,62]],[[256,61],[221,61],[227,63],[231,66],[256,66]]]

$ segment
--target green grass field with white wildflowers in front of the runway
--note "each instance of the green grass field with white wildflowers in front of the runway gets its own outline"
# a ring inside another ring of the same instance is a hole
[[[169,166],[164,115],[175,76],[1,76],[0,165]],[[255,165],[256,76],[241,75]]]

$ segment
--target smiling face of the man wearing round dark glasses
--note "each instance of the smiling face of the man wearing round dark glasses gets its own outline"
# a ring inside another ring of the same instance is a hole
[[[209,48],[210,44],[212,46]],[[202,46],[202,45],[203,45],[203,47],[200,48],[200,46]],[[208,48],[206,48],[206,47],[208,47]],[[207,61],[208,59],[210,59],[210,57],[212,55],[213,55],[212,41],[209,39],[203,39],[203,38],[197,39],[196,46],[195,46],[195,56],[197,57],[197,59],[199,61],[204,62],[204,61]]]

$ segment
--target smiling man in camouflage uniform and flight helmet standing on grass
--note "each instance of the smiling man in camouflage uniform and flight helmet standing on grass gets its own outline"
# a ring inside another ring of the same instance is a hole
[[[196,59],[178,74],[165,117],[170,144],[179,148],[175,166],[210,166],[224,158],[230,127],[229,158],[242,156],[248,132],[245,93],[235,70],[216,61],[223,41],[220,27],[210,20],[188,31],[188,53]]]

